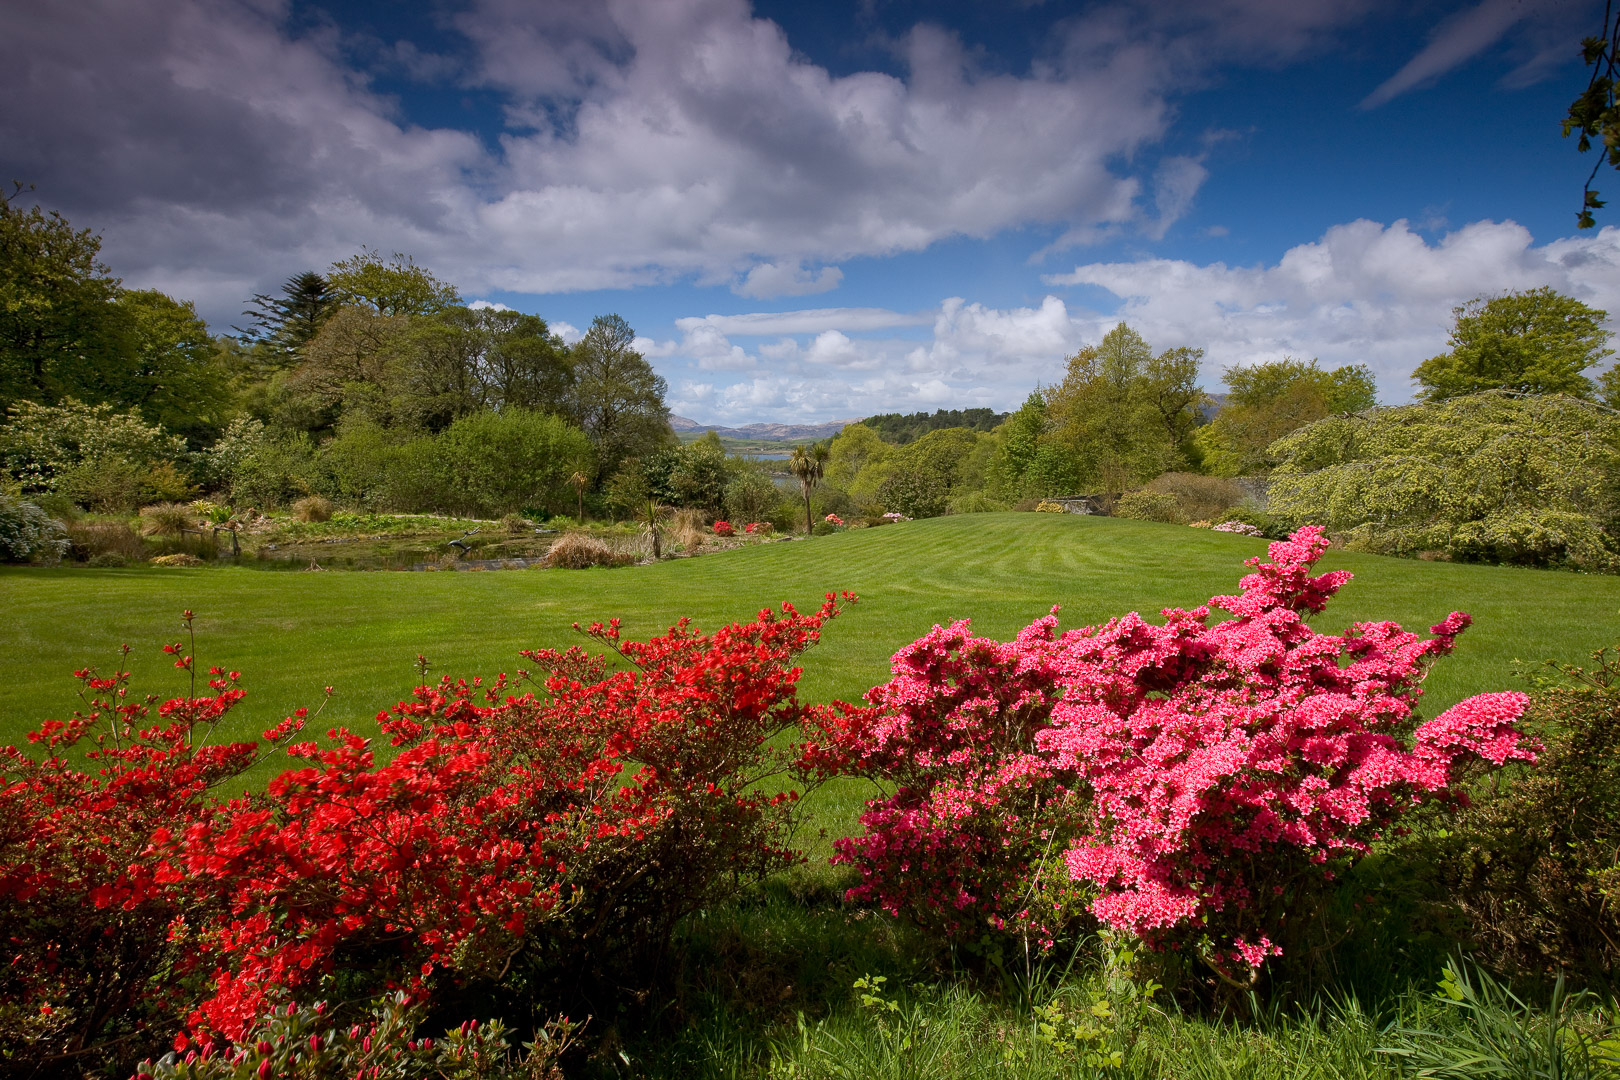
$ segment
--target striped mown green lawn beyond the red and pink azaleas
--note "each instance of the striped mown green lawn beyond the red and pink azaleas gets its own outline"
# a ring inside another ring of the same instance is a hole
[[[287,573],[262,570],[5,568],[0,740],[75,706],[75,667],[112,667],[133,646],[143,691],[172,695],[180,674],[159,651],[181,609],[196,612],[198,656],[243,672],[240,732],[316,704],[334,685],[327,719],[369,725],[410,688],[411,662],[434,672],[510,670],[517,653],[578,641],[570,625],[619,615],[629,635],[679,615],[700,627],[747,619],[763,606],[813,607],[828,589],[860,604],[834,622],[805,661],[812,699],[855,696],[881,680],[889,654],[935,622],[972,617],[1009,636],[1050,606],[1066,627],[1126,610],[1192,606],[1236,591],[1243,560],[1262,541],[1170,525],[1072,515],[996,513],[857,529],[622,570],[489,573]],[[1576,661],[1620,631],[1620,578],[1424,563],[1330,552],[1327,568],[1356,573],[1319,619],[1393,619],[1424,630],[1452,609],[1474,615],[1455,656],[1430,678],[1429,711],[1513,685],[1511,661]]]

